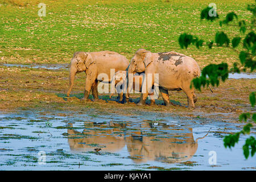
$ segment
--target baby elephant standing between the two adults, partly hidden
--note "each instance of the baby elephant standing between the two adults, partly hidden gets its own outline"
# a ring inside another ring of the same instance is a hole
[[[112,78],[113,82],[115,81],[115,88],[118,91],[118,102],[129,102],[129,95],[126,94],[126,97],[123,96],[123,91],[125,88],[123,88],[125,85],[127,85],[127,71],[118,71],[115,72],[115,75]],[[133,89],[136,92],[142,92],[142,81],[143,81],[143,75],[134,75],[133,76]],[[153,85],[154,87],[154,85]],[[114,93],[111,93],[109,98],[113,96]],[[153,93],[148,93],[148,96],[150,97],[150,105],[155,105],[155,100],[152,98],[154,95]]]

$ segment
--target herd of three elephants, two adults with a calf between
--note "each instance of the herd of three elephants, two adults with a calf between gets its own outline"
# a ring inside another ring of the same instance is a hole
[[[111,77],[112,70],[115,72],[113,77]],[[86,73],[84,97],[82,98],[85,101],[88,100],[90,90],[92,90],[94,100],[98,100],[98,81],[112,82],[114,80],[115,86],[119,85],[122,91],[118,92],[119,101],[128,102],[131,92],[127,88],[135,87],[139,88],[137,92],[141,92],[137,105],[144,105],[147,97],[152,96],[154,93],[152,90],[155,90],[157,86],[163,97],[164,105],[171,104],[168,90],[183,90],[187,95],[188,107],[191,108],[195,107],[197,100],[191,81],[201,74],[199,65],[194,59],[174,51],[153,53],[141,48],[135,52],[131,61],[113,51],[75,52],[69,71],[68,97],[73,88],[76,73],[80,72]],[[143,73],[143,77],[136,73]],[[101,77],[102,74],[107,75],[107,79]],[[157,75],[157,80],[155,75]],[[144,90],[142,85],[146,85]],[[124,90],[125,88],[127,90]],[[153,97],[150,100],[151,105],[155,104]]]

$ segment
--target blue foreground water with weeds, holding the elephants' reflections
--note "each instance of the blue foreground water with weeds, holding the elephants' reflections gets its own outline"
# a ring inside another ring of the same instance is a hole
[[[0,113],[1,170],[255,170],[237,123],[144,115]],[[152,120],[154,118],[154,120]],[[255,135],[255,130],[253,131]],[[207,135],[208,134],[208,135]],[[205,136],[207,135],[207,136]],[[96,152],[94,149],[100,148]]]

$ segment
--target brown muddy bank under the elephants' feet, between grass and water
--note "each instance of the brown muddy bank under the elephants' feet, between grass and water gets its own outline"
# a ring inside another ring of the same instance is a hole
[[[56,68],[59,68],[56,66]],[[249,93],[256,90],[255,78],[228,79],[220,86],[203,88],[196,91],[195,109],[185,107],[187,97],[182,91],[172,91],[170,101],[174,106],[163,106],[161,97],[155,106],[137,106],[140,94],[131,94],[130,104],[120,104],[109,94],[100,94],[100,101],[83,102],[85,74],[76,75],[71,97],[67,97],[68,69],[35,69],[27,67],[5,67],[0,65],[0,110],[13,112],[17,110],[72,110],[86,113],[87,109],[115,114],[170,113],[179,117],[208,118],[214,121],[238,122],[241,113],[255,108],[250,107]],[[89,97],[92,99],[92,95]],[[149,101],[147,101],[147,104]]]

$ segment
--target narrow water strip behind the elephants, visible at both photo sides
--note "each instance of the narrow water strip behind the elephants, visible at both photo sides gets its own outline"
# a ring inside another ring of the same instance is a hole
[[[68,69],[69,64],[0,64],[5,67],[19,67],[19,68],[44,68],[44,69],[50,69],[50,70],[55,70],[55,69]],[[253,79],[256,78],[256,73],[229,73],[229,78],[233,79],[240,79],[240,78],[249,78]]]

